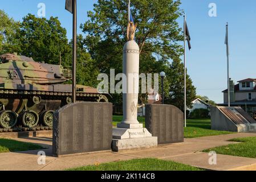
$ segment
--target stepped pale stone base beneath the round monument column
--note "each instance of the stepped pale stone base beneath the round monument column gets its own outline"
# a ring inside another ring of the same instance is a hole
[[[112,150],[131,150],[135,148],[149,148],[157,146],[157,137],[143,127],[136,129],[113,129]]]

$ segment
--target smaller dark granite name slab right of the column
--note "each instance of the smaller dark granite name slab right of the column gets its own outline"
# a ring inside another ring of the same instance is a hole
[[[145,127],[159,144],[184,142],[184,115],[173,105],[146,105]]]

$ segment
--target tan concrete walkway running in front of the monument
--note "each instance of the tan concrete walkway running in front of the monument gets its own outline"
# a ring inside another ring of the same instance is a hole
[[[73,167],[81,167],[95,163],[115,162],[138,158],[159,158],[189,164],[211,170],[256,170],[256,159],[241,158],[228,155],[217,155],[217,165],[209,165],[208,154],[200,152],[207,148],[225,146],[232,138],[256,137],[256,133],[238,133],[213,137],[201,137],[185,139],[184,143],[162,145],[144,150],[94,152],[81,155],[70,155],[62,158],[51,156],[51,138],[30,137],[18,138],[23,142],[31,142],[48,147],[46,150],[46,164],[38,164],[38,151],[25,151],[0,154],[0,170],[63,170]]]

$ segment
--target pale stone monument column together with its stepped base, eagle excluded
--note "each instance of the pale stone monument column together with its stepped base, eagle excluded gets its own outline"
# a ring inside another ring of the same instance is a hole
[[[140,49],[134,40],[125,43],[123,48],[123,121],[113,129],[112,150],[129,150],[157,146],[157,137],[137,121],[137,104],[139,94],[139,60]],[[125,87],[126,85],[126,87]]]

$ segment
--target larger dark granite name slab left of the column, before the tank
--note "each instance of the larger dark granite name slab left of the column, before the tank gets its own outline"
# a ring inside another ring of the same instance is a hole
[[[69,104],[57,110],[54,119],[54,156],[111,150],[111,103]]]

